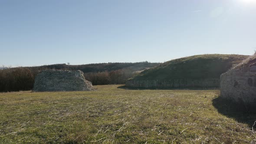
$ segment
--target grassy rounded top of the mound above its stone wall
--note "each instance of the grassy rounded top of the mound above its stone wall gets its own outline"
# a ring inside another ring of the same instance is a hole
[[[248,57],[221,54],[188,56],[147,69],[131,80],[214,79]]]

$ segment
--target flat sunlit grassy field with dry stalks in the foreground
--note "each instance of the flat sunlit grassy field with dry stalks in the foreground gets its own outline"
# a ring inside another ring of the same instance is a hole
[[[219,90],[0,93],[0,144],[255,143],[256,115]]]

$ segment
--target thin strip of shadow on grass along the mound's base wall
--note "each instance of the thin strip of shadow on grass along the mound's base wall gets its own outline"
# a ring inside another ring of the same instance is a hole
[[[220,89],[216,87],[202,87],[202,88],[130,88],[126,87],[125,85],[118,86],[117,88],[122,88],[122,89],[130,89],[130,90],[215,90],[215,89]]]

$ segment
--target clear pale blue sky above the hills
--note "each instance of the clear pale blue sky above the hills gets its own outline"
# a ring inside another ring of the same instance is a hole
[[[252,55],[256,0],[0,0],[0,65]]]

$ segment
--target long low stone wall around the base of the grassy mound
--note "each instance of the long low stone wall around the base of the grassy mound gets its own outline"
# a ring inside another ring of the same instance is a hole
[[[125,86],[131,88],[216,88],[220,79],[171,79],[171,80],[128,80]]]

